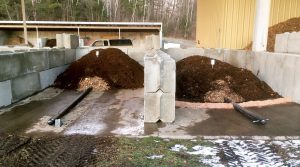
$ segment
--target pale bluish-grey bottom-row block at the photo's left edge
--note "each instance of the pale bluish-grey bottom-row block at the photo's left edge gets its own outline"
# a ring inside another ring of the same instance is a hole
[[[12,102],[10,80],[0,82],[0,92],[0,107],[10,105]]]

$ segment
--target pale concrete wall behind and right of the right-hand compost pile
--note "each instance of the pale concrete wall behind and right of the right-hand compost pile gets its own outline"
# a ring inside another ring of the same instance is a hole
[[[202,55],[252,71],[283,97],[300,103],[300,55],[288,53],[252,52],[227,49],[167,49],[175,61],[192,55]]]

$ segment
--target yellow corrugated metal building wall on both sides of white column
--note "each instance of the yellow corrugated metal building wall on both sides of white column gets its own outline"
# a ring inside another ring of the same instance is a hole
[[[252,41],[256,0],[198,0],[197,46],[241,49]],[[300,17],[300,0],[272,0],[270,26]]]

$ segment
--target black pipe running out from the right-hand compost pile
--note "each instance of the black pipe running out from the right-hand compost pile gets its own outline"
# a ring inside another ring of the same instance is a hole
[[[233,102],[232,100],[230,100],[228,98],[225,98],[224,101],[226,103],[231,103],[233,105],[233,108],[236,111],[240,112],[241,114],[246,116],[248,119],[252,120],[253,123],[265,125],[267,123],[267,121],[269,120],[267,118],[264,118],[258,114],[255,114],[255,113],[243,108],[242,106],[238,105],[237,103]]]

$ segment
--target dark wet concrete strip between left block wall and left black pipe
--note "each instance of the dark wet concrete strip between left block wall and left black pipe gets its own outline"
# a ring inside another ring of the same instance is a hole
[[[78,95],[79,92],[65,90],[52,99],[34,100],[17,105],[4,113],[0,112],[0,133],[23,134],[41,117],[45,115],[52,117],[58,114],[66,104],[69,104]]]

